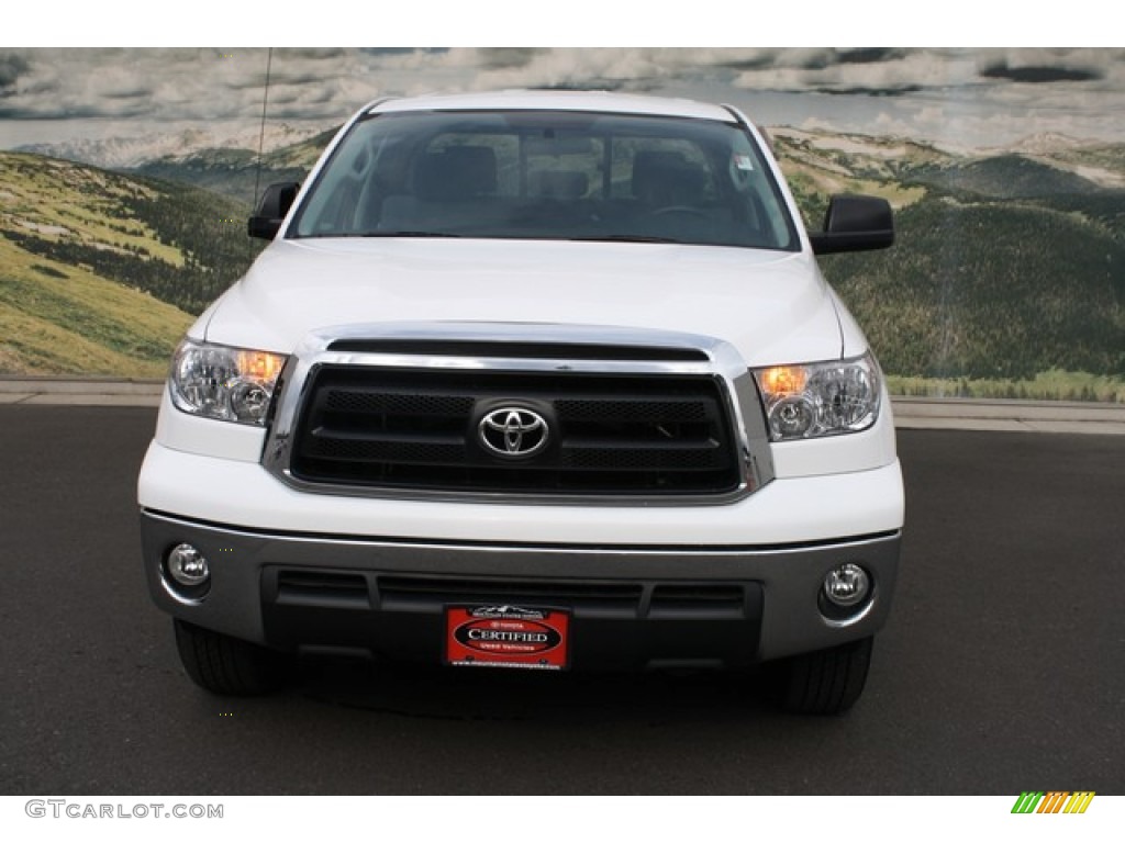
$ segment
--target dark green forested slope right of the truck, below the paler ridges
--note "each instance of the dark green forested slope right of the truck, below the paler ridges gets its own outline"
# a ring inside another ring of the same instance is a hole
[[[1125,246],[1036,205],[920,202],[890,251],[821,261],[888,372],[1125,374]]]

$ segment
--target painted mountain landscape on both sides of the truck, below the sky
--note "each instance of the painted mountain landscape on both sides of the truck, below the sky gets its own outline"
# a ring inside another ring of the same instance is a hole
[[[771,135],[810,227],[832,193],[898,209],[894,248],[821,261],[898,391],[1125,401],[1125,145]],[[299,180],[330,137],[281,137],[261,171],[208,138],[118,145],[117,171],[0,153],[0,372],[161,374],[256,254],[255,185]]]

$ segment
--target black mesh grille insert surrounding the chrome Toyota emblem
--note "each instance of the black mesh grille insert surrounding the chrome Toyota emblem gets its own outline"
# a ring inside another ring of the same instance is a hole
[[[719,495],[738,487],[721,381],[326,365],[312,375],[290,470],[313,483],[532,495]],[[516,407],[549,441],[505,457],[480,419]]]

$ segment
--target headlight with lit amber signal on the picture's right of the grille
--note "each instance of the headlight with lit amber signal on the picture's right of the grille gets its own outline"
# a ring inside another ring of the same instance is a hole
[[[865,430],[879,418],[874,357],[771,366],[754,371],[774,442]]]

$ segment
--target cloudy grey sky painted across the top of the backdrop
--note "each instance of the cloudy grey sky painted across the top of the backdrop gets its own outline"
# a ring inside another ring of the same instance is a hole
[[[767,126],[952,147],[1125,142],[1125,48],[0,48],[0,148],[268,119],[341,123],[384,94],[600,88],[732,102]]]

